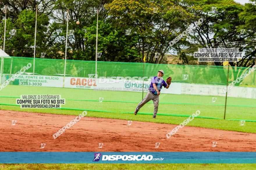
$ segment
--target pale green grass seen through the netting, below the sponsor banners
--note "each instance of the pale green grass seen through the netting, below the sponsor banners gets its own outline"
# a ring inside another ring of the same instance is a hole
[[[95,111],[110,111],[115,113],[133,113],[135,107],[142,100],[141,92],[111,92],[94,91],[89,89],[70,89],[54,87],[33,87],[8,85],[0,91],[0,103],[15,104],[16,97],[22,94],[61,94],[66,99],[63,108],[88,109]],[[144,92],[144,96],[146,92]],[[99,103],[99,97],[103,97]],[[212,103],[212,97],[217,97]],[[158,114],[191,115],[200,110],[200,116],[220,118],[224,117],[225,97],[161,94]],[[139,113],[153,112],[152,102],[144,105]],[[227,98],[226,119],[241,119],[256,121],[256,99]]]

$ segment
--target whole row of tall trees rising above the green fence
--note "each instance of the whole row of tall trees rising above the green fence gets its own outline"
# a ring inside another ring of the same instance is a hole
[[[143,62],[145,56],[146,63],[167,63],[169,54],[175,56],[177,64],[200,64],[193,59],[193,52],[199,47],[233,47],[243,51],[244,57],[230,64],[251,67],[256,53],[256,0],[251,2],[241,5],[233,0],[3,0],[0,46],[7,6],[6,53],[33,57],[38,8],[36,57],[45,52],[45,58],[63,59],[68,8],[68,29],[74,30],[74,34],[68,35],[67,59],[94,61],[99,10],[97,49],[102,56],[98,61]],[[170,45],[200,18],[200,25]]]

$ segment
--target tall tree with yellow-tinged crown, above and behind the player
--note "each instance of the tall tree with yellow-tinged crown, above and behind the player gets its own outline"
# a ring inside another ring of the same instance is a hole
[[[161,63],[169,49],[168,42],[173,30],[180,28],[190,14],[179,6],[180,1],[113,0],[105,5],[115,26],[131,30],[131,36],[137,36],[137,43],[131,48],[138,51],[140,61],[146,56],[149,63]],[[173,17],[175,16],[175,17]],[[155,61],[154,53],[161,57]]]

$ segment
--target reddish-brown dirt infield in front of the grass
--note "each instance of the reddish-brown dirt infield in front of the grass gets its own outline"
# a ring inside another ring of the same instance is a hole
[[[256,151],[256,134],[186,126],[167,139],[177,125],[88,116],[54,139],[75,117],[0,110],[1,151]]]

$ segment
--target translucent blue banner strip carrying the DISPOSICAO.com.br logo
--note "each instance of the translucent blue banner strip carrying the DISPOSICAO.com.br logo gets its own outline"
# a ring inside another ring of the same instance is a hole
[[[0,152],[0,163],[256,163],[256,152]]]

